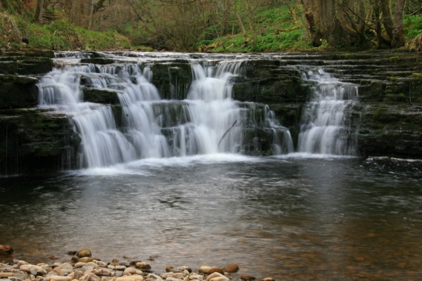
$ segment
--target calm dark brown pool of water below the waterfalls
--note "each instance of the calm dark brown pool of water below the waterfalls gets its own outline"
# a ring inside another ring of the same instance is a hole
[[[158,256],[158,273],[238,263],[235,276],[279,280],[421,278],[422,162],[308,156],[0,178],[0,244],[31,262],[82,247]]]

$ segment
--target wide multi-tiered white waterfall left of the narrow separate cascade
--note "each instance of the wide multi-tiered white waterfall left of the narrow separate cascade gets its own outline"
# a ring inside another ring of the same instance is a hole
[[[82,64],[65,65],[42,77],[39,105],[73,116],[82,139],[80,168],[149,157],[250,154],[259,150],[250,144],[256,142],[258,129],[271,133],[271,154],[293,152],[288,129],[276,122],[268,107],[231,98],[230,78],[238,74],[241,61],[200,63],[191,62],[193,82],[186,100],[161,100],[151,84],[148,63]],[[84,102],[82,90],[87,86],[116,92],[121,113],[119,105]],[[121,124],[116,124],[116,115],[121,115]]]

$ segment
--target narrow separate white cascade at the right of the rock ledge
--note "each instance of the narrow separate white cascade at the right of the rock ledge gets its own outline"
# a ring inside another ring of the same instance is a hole
[[[324,70],[307,71],[302,78],[314,84],[314,96],[302,115],[298,150],[354,155],[356,141],[346,111],[358,96],[357,85],[338,81]]]

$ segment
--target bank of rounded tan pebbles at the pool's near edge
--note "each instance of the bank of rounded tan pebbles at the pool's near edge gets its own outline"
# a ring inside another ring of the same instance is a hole
[[[203,265],[198,273],[188,266],[152,268],[147,262],[130,259],[113,259],[105,262],[92,256],[89,249],[69,251],[69,261],[53,262],[60,256],[49,256],[49,261],[35,264],[13,259],[13,248],[0,245],[4,261],[0,263],[0,280],[4,281],[230,281],[255,280],[254,276],[241,275],[239,267],[231,263],[223,268]],[[1,256],[0,256],[1,258]],[[1,259],[1,260],[3,260]],[[264,277],[261,281],[274,281]]]

